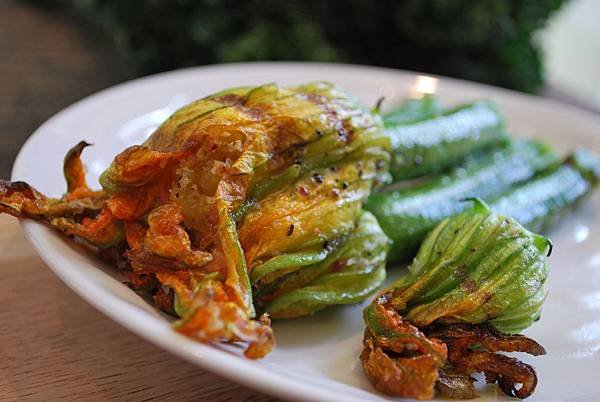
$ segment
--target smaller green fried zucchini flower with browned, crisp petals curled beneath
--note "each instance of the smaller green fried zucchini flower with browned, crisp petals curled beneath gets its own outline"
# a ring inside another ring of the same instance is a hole
[[[515,333],[540,317],[550,241],[482,201],[442,221],[409,273],[365,309],[363,368],[382,392],[431,399],[475,395],[483,371],[510,396],[534,391],[534,369],[497,351],[545,353]],[[500,332],[502,331],[502,332]],[[520,385],[518,385],[520,384]]]

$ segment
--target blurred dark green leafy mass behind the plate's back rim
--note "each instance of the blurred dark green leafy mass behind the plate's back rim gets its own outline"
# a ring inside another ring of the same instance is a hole
[[[140,74],[198,64],[307,60],[542,84],[533,34],[563,0],[54,0],[98,23]]]

